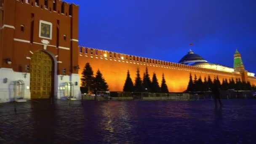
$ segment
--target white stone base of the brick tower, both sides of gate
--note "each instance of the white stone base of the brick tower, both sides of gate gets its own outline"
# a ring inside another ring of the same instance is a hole
[[[54,81],[54,97],[55,99],[66,99],[72,96],[75,99],[81,99],[80,76],[78,74],[56,75]],[[17,94],[17,85],[15,83],[21,81],[23,83],[23,96]],[[72,93],[68,92],[65,84],[70,83]],[[30,73],[14,72],[10,68],[0,68],[0,103],[14,101],[15,98],[31,99],[30,95]]]

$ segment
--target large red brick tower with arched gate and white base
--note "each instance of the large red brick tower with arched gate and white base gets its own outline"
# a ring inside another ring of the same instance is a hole
[[[0,0],[0,102],[80,96],[78,8],[61,0]]]

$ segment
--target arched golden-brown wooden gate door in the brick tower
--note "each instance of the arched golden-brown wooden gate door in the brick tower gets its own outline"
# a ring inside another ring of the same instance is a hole
[[[54,67],[51,56],[43,51],[33,54],[30,63],[31,99],[48,99],[53,95]]]

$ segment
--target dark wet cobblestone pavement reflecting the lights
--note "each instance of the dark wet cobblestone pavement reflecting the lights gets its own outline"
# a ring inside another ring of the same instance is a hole
[[[0,104],[0,143],[256,143],[256,99]]]

